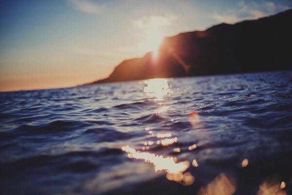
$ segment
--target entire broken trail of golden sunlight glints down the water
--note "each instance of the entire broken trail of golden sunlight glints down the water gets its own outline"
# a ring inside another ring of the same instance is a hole
[[[146,96],[156,98],[155,100],[163,100],[165,96],[170,96],[170,94],[172,94],[172,91],[168,86],[168,81],[165,78],[145,80],[145,84],[146,86],[144,87],[144,92],[146,93]],[[170,108],[170,106],[163,105],[161,102],[158,103],[158,106],[161,107],[156,110],[156,114],[164,113]],[[174,119],[171,121],[174,121]],[[154,133],[152,130],[153,128],[149,126],[145,128],[145,131],[152,136],[156,134],[156,137],[160,138],[159,140],[156,142],[144,141],[142,151],[136,150],[128,145],[123,146],[121,148],[122,151],[127,153],[128,158],[145,160],[145,162],[153,164],[155,172],[165,172],[168,180],[181,183],[185,186],[193,184],[195,177],[189,172],[184,173],[191,164],[188,160],[178,162],[178,159],[175,156],[165,157],[147,152],[147,150],[150,150],[150,147],[152,147],[154,143],[166,147],[178,142],[178,138],[172,137],[171,133]],[[180,153],[181,149],[174,148],[172,152]]]

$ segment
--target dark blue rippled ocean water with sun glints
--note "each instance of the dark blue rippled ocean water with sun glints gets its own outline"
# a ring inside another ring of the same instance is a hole
[[[291,186],[291,71],[0,93],[2,195]]]

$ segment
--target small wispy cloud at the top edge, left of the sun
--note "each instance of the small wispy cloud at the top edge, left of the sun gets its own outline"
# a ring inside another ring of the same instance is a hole
[[[68,0],[75,9],[90,13],[90,14],[98,14],[104,8],[102,5],[97,5],[90,0]]]

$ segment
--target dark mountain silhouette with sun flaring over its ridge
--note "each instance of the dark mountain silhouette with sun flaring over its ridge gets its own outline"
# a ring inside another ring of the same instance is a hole
[[[292,69],[292,9],[258,20],[221,23],[205,31],[164,38],[158,59],[147,53],[90,84],[146,78]]]

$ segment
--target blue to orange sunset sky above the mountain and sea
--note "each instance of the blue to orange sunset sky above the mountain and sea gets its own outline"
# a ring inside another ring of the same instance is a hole
[[[291,0],[1,0],[0,91],[106,78],[165,36],[289,8]]]

